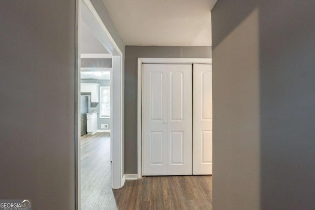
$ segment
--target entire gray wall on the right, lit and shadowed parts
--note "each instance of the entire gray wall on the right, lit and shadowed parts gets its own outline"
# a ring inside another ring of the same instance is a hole
[[[216,210],[314,209],[314,11],[313,0],[212,11]]]

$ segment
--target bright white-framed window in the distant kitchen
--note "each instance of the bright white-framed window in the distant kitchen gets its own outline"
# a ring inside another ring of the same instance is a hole
[[[99,117],[110,118],[110,87],[100,87],[99,90]]]

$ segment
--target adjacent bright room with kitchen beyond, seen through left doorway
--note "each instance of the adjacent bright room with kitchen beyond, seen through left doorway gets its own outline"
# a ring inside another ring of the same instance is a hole
[[[93,34],[89,20],[83,15],[80,21],[81,209],[88,210],[114,201],[110,136],[112,56]]]

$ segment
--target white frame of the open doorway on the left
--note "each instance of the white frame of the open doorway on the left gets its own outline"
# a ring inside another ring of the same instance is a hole
[[[82,10],[84,9],[84,11]],[[113,140],[112,188],[124,185],[123,140],[124,140],[124,69],[123,53],[97,14],[91,0],[76,0],[75,41],[75,209],[81,209],[81,138],[80,128],[80,30],[81,17],[88,20],[90,28],[112,57],[111,71],[111,140]],[[85,56],[85,55],[84,55]],[[84,57],[83,56],[83,57]],[[114,97],[115,95],[115,97]]]

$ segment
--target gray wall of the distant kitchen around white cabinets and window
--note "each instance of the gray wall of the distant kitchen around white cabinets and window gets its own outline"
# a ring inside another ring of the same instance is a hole
[[[110,80],[81,80],[81,83],[98,83],[99,87],[110,87]],[[85,95],[84,93],[81,93],[81,95]],[[91,103],[91,93],[89,96],[89,112],[96,111],[98,114],[97,119],[97,129],[98,130],[109,130],[110,129],[110,118],[99,118],[99,103]],[[101,124],[108,124],[107,129],[100,128]]]

